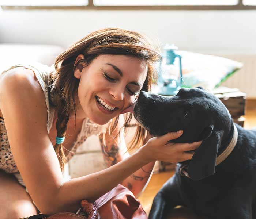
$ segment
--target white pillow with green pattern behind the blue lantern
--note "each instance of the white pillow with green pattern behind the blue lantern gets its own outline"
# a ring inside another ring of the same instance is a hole
[[[214,55],[188,51],[177,51],[177,54],[182,57],[182,87],[201,86],[212,90],[243,66],[241,62]]]

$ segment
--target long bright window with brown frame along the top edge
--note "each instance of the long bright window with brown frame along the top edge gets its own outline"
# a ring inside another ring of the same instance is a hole
[[[256,10],[256,0],[0,0],[3,9]]]

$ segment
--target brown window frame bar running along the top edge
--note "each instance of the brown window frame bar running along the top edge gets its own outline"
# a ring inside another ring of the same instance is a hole
[[[238,0],[237,5],[161,5],[161,6],[95,6],[93,0],[88,0],[86,6],[20,6],[1,5],[3,10],[256,10],[256,5],[243,5]]]

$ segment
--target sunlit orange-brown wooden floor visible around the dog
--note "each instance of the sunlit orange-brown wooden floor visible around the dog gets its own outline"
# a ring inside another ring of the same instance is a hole
[[[245,117],[244,128],[246,129],[251,129],[253,127],[256,128],[256,99],[247,100],[246,112],[244,117]],[[138,198],[147,214],[150,211],[151,204],[158,190],[171,176],[173,176],[173,174],[174,174],[174,171],[153,174],[150,182],[148,183],[147,188],[144,190],[142,195],[140,195],[140,197]],[[177,218],[181,219],[181,217],[177,217]]]

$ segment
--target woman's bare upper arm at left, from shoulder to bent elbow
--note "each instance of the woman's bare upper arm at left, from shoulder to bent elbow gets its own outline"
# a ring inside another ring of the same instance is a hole
[[[40,211],[48,211],[63,176],[47,131],[45,95],[32,70],[0,78],[0,105],[15,163]]]

